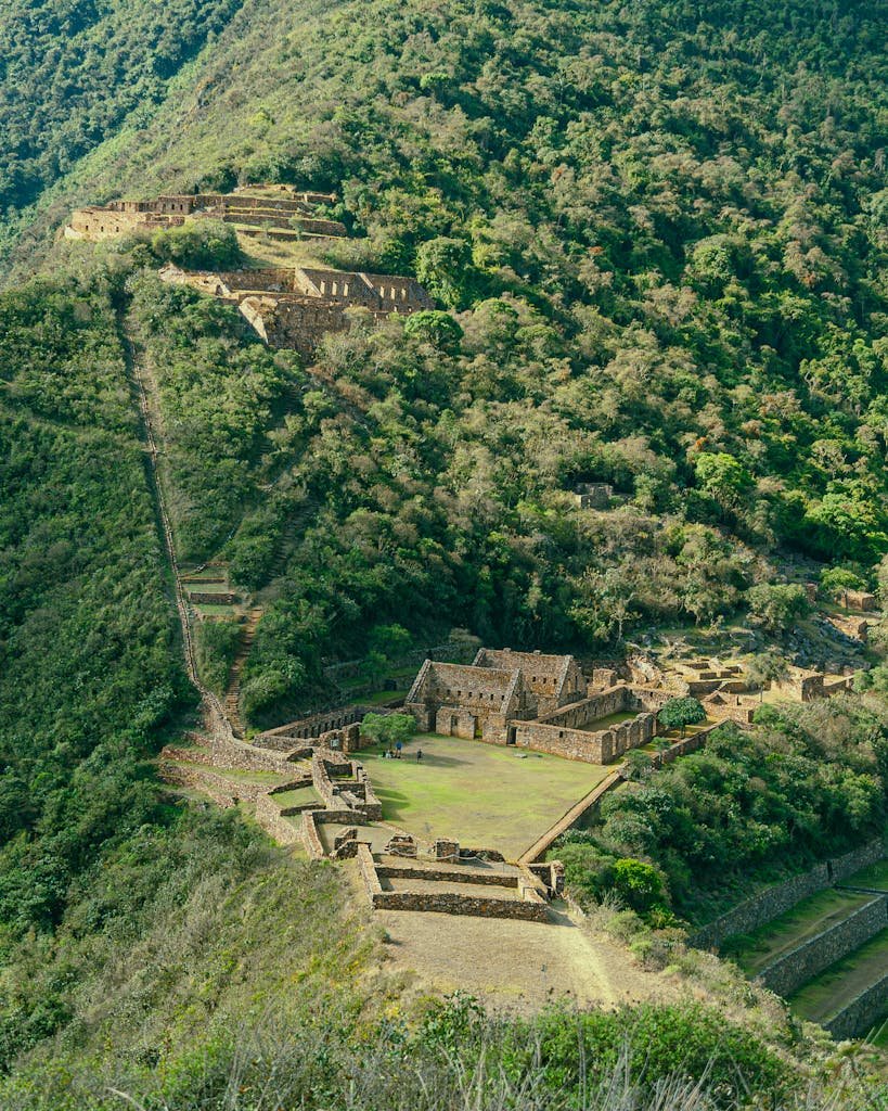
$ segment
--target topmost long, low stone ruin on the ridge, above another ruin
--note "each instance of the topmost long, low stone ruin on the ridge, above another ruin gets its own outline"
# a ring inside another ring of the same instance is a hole
[[[268,188],[263,192],[270,192]],[[68,239],[99,241],[139,231],[174,228],[189,220],[222,220],[238,224],[250,234],[289,239],[342,237],[345,227],[337,220],[319,219],[317,204],[330,204],[335,198],[327,193],[286,190],[275,196],[251,194],[248,190],[233,193],[181,193],[157,197],[150,201],[118,200],[104,206],[75,209],[64,229]]]

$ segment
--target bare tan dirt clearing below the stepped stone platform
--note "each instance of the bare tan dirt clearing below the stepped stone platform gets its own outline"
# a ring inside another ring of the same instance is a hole
[[[581,1007],[652,998],[654,978],[569,913],[553,912],[549,922],[411,911],[376,917],[393,971],[413,973],[426,990],[468,991],[493,1010],[528,1013],[563,998]],[[665,985],[662,993],[672,994]]]

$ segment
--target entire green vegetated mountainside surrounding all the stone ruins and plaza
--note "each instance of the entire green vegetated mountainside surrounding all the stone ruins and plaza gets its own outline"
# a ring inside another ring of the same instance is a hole
[[[195,699],[131,360],[180,554],[263,610],[252,727],[325,698],[332,662],[453,628],[613,658],[751,609],[779,639],[805,608],[769,593],[787,556],[886,589],[887,30],[856,0],[0,11],[3,1107],[554,1111],[627,1023],[639,1099],[678,1043],[707,1108],[738,1074],[760,1107],[816,1088],[771,1015],[411,1024],[339,873],[164,793],[151,761]],[[412,273],[438,310],[359,319],[311,363],[162,284],[163,236],[54,242],[74,203],[258,180],[335,192],[352,238],[322,261]],[[579,513],[578,481],[613,508]],[[199,648],[224,678],[231,643]],[[649,858],[684,913],[728,859],[878,832],[884,708],[818,712],[615,793],[577,874]]]

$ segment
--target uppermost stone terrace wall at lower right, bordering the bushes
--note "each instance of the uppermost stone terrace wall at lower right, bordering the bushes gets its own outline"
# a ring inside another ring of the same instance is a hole
[[[734,933],[749,933],[765,922],[770,922],[808,895],[824,891],[831,883],[880,860],[884,852],[885,847],[877,839],[844,857],[815,864],[810,871],[794,875],[745,900],[727,914],[702,927],[688,938],[688,942],[698,949],[717,949],[725,938]]]

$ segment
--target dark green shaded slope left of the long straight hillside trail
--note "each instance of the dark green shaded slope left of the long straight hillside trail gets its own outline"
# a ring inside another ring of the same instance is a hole
[[[188,698],[112,293],[0,299],[0,938],[152,819],[143,760]]]

